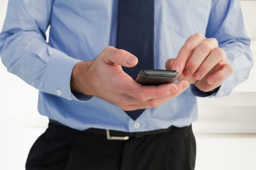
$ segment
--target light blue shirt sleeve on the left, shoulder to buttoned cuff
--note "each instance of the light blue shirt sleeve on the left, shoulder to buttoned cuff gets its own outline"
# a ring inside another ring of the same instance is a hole
[[[86,102],[92,96],[74,95],[70,88],[72,70],[81,60],[46,43],[53,1],[9,0],[0,34],[1,61],[9,72],[42,92]]]

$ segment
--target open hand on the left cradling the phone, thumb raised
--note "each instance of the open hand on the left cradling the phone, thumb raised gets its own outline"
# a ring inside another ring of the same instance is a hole
[[[138,59],[133,54],[106,47],[95,60],[79,62],[74,67],[71,90],[99,97],[128,111],[158,107],[189,86],[187,81],[158,86],[140,85],[121,68],[132,68],[137,63]]]

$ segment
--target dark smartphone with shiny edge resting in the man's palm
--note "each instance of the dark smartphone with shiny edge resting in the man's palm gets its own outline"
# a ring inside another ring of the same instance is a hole
[[[173,83],[178,77],[177,70],[166,69],[141,69],[138,72],[136,82],[141,85],[161,85]]]

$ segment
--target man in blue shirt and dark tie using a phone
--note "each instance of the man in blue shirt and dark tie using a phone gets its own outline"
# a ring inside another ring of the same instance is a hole
[[[237,0],[9,0],[2,63],[50,119],[26,169],[194,170],[196,96],[231,94],[249,45]],[[139,85],[145,68],[179,76]]]

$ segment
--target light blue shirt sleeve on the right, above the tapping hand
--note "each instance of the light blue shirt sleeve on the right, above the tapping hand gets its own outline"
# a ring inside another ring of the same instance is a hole
[[[234,73],[220,85],[214,94],[206,94],[199,89],[196,89],[193,94],[216,98],[230,95],[236,85],[248,78],[253,67],[251,40],[238,0],[213,0],[206,37],[214,37],[218,40],[219,48],[226,52],[227,60],[233,66]]]

